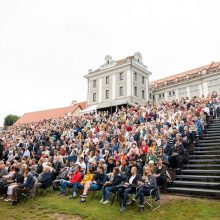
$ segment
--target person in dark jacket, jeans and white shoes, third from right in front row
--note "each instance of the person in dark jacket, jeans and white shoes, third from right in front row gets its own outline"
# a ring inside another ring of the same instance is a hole
[[[121,182],[123,181],[118,167],[113,168],[112,174],[112,180],[105,182],[102,187],[102,199],[100,202],[103,204],[110,202],[111,192],[114,191],[115,187],[121,184]]]

